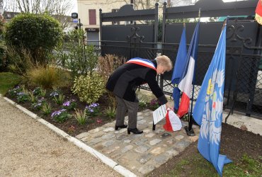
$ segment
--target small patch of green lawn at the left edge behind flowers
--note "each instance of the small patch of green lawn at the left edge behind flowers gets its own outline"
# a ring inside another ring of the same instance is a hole
[[[8,89],[13,88],[21,81],[21,76],[11,72],[0,72],[0,93],[5,94]]]

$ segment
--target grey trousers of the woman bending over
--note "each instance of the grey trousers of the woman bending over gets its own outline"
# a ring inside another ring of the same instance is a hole
[[[118,102],[116,110],[116,122],[115,125],[124,125],[125,122],[125,113],[128,112],[128,127],[136,128],[137,127],[137,111],[138,111],[138,100],[135,102],[126,101],[123,98],[115,96],[116,101]]]

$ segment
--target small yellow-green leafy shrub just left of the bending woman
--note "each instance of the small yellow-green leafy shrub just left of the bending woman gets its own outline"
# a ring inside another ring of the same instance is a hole
[[[72,91],[79,96],[80,101],[90,104],[98,101],[106,90],[103,78],[93,72],[87,76],[76,77]]]

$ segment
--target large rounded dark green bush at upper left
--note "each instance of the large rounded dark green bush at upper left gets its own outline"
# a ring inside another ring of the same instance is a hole
[[[34,62],[47,64],[48,53],[62,39],[61,25],[47,15],[21,13],[6,25],[6,43],[30,50]]]

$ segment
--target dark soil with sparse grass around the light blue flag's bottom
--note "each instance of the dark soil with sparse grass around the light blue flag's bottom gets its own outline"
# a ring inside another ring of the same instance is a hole
[[[220,154],[233,163],[226,164],[223,176],[262,175],[262,136],[222,124]],[[148,176],[218,176],[215,168],[198,152],[198,142],[187,147]]]

